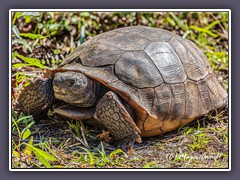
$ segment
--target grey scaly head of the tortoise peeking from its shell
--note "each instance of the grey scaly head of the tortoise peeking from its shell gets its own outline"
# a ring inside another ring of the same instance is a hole
[[[98,82],[80,72],[66,71],[54,75],[53,90],[56,99],[79,107],[95,104]]]

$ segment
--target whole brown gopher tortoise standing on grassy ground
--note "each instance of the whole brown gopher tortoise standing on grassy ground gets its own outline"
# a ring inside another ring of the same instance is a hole
[[[51,77],[38,78],[23,90],[21,110],[37,117],[65,102],[55,108],[57,114],[95,119],[121,147],[173,131],[225,106],[228,99],[193,42],[144,26],[91,38]]]

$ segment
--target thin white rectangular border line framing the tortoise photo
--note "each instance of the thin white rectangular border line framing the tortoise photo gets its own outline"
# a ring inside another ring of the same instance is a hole
[[[60,12],[60,11],[65,11],[65,12],[75,12],[75,11],[92,11],[92,12],[116,12],[116,11],[122,11],[122,12],[178,12],[178,11],[182,11],[182,12],[194,12],[194,11],[199,11],[199,12],[211,12],[211,11],[215,11],[215,12],[228,12],[229,17],[229,29],[228,29],[228,45],[229,45],[229,49],[228,49],[228,53],[229,53],[229,67],[228,67],[228,93],[229,93],[229,97],[228,97],[228,105],[229,105],[229,139],[228,139],[228,146],[229,146],[229,162],[228,162],[228,169],[188,169],[188,168],[184,168],[184,169],[13,169],[12,168],[12,152],[11,152],[11,105],[12,105],[12,97],[11,97],[11,76],[12,76],[12,60],[11,60],[11,56],[12,56],[12,51],[11,51],[11,29],[12,29],[12,22],[11,22],[11,14],[12,12],[15,11],[25,11],[25,12],[47,12],[47,11],[53,11],[53,12]],[[232,42],[231,42],[231,10],[230,9],[10,9],[9,10],[9,171],[231,171],[231,46],[232,46]]]

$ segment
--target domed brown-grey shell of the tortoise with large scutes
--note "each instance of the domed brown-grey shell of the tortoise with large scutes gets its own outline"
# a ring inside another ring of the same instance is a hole
[[[189,40],[144,26],[97,35],[60,65],[91,77],[136,112],[141,136],[177,129],[225,104],[207,57]]]

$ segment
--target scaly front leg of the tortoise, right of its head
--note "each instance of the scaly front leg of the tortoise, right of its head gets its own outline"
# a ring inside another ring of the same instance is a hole
[[[116,93],[108,91],[96,106],[95,118],[108,129],[123,150],[141,142],[140,130]]]

